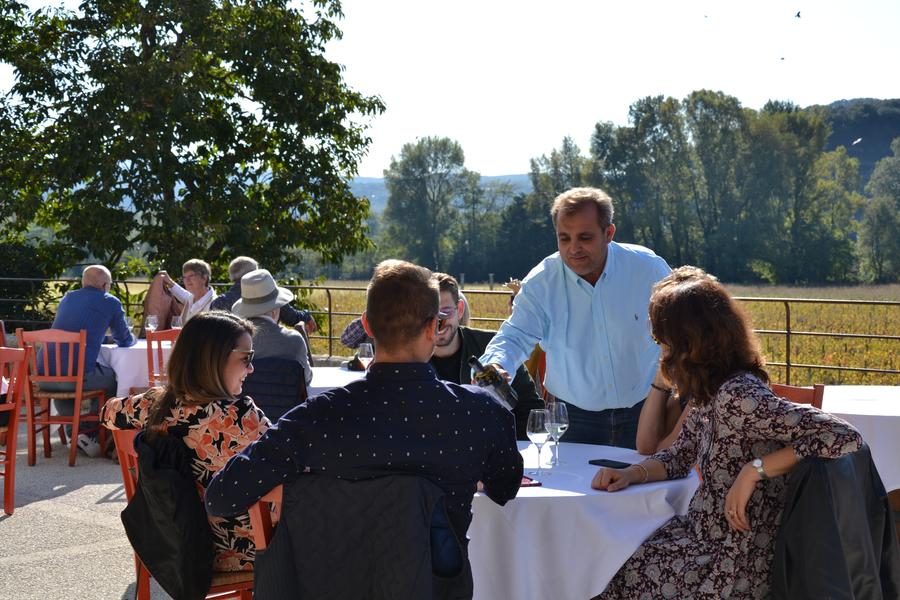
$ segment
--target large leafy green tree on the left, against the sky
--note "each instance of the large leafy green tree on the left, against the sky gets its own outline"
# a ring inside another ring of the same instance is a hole
[[[109,263],[139,247],[170,268],[238,253],[279,268],[291,248],[366,248],[348,178],[383,105],[324,56],[339,2],[295,4],[5,2],[3,214]]]

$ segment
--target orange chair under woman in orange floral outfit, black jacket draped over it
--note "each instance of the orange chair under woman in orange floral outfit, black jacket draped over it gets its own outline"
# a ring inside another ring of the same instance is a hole
[[[119,458],[119,468],[122,470],[125,498],[129,502],[135,491],[137,491],[138,456],[137,451],[134,449],[134,438],[137,437],[139,431],[139,429],[112,430],[113,441],[116,445],[116,455]],[[134,555],[134,568],[137,575],[137,594],[135,598],[136,600],[150,600],[150,572],[137,554]],[[253,571],[213,573],[212,585],[206,594],[206,599],[226,600],[229,598],[252,600]]]

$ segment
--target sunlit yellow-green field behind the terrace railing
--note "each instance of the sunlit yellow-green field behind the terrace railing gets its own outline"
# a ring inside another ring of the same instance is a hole
[[[730,286],[729,289],[734,295],[748,299],[745,307],[754,327],[770,331],[787,329],[784,303],[754,301],[751,298],[897,302],[894,305],[790,303],[790,329],[793,332],[791,363],[900,371],[900,339],[860,339],[797,333],[850,333],[900,338],[898,284],[823,288]],[[471,285],[467,286],[465,292],[472,309],[472,325],[496,329],[507,315],[509,295],[505,288],[495,285],[491,291],[487,285]],[[341,346],[338,339],[332,341],[329,352],[328,327],[330,323],[331,335],[339,338],[347,323],[359,315],[365,302],[365,282],[326,282],[320,289],[312,292],[309,300],[321,311],[317,314],[320,331],[314,336],[313,351],[316,354],[349,354],[349,350]],[[760,341],[769,362],[786,362],[784,334],[763,333]],[[786,379],[784,367],[770,365],[769,372],[774,381]],[[900,375],[793,366],[791,382],[900,385]]]

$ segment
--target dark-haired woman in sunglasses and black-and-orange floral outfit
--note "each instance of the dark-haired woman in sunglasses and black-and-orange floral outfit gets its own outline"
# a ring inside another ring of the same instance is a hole
[[[192,455],[194,478],[204,488],[228,459],[260,438],[270,423],[248,397],[240,397],[253,372],[253,326],[226,312],[187,322],[169,358],[169,383],[132,398],[107,402],[110,429],[140,428],[180,436]],[[148,433],[149,435],[149,433]],[[250,518],[209,517],[216,571],[252,569]]]

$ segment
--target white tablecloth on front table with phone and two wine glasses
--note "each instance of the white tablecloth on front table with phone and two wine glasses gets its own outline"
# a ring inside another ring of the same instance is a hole
[[[537,452],[519,442],[525,472]],[[619,492],[592,490],[592,458],[643,460],[624,448],[566,444],[563,465],[541,476],[542,487],[519,490],[497,506],[476,494],[469,527],[469,559],[478,600],[588,599],[599,594],[641,543],[675,514],[687,512],[697,477],[636,485]],[[541,453],[544,463],[550,446]]]

